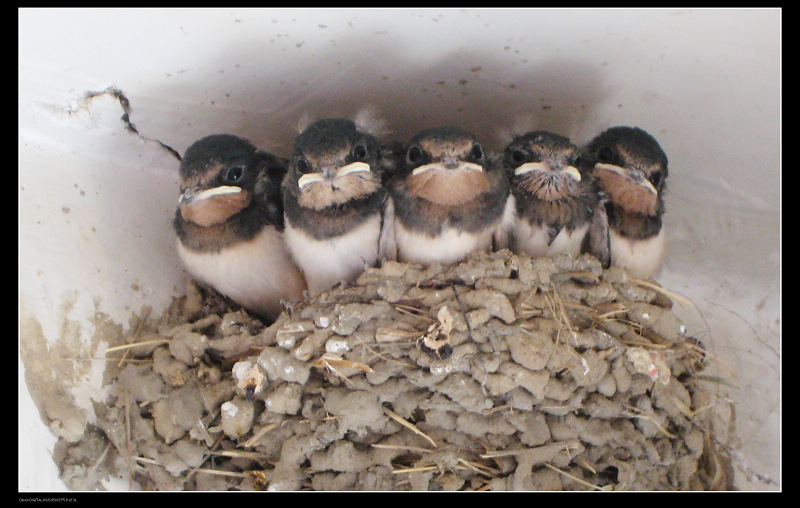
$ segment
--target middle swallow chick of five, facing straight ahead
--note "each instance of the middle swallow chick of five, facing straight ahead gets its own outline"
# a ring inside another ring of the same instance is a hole
[[[473,134],[435,127],[408,143],[389,184],[399,261],[430,265],[508,247],[514,199],[499,158]]]

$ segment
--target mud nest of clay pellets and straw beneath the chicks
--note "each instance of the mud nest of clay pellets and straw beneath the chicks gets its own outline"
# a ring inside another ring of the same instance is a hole
[[[268,327],[192,288],[112,348],[96,422],[56,446],[71,488],[733,487],[703,345],[589,256],[390,262]]]

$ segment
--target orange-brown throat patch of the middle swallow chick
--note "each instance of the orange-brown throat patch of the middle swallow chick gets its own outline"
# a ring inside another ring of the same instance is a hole
[[[412,196],[445,206],[460,205],[489,190],[485,171],[430,169],[406,180]]]

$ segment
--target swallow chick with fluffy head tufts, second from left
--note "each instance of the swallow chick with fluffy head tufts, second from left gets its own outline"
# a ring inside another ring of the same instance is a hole
[[[360,117],[318,120],[295,139],[283,180],[286,242],[312,295],[378,263],[387,164]]]

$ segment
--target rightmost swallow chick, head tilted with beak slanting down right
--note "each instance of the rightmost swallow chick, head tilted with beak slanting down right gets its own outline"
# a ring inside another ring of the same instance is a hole
[[[612,127],[586,147],[592,174],[608,196],[611,262],[636,277],[661,271],[665,238],[662,225],[667,156],[638,127]]]

